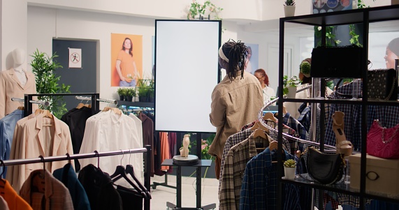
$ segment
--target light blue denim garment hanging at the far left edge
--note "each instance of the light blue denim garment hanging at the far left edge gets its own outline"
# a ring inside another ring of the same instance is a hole
[[[13,145],[14,130],[17,121],[24,117],[23,110],[15,110],[10,114],[0,119],[0,160],[8,160],[10,158],[11,145]],[[3,168],[0,167],[0,174],[3,173]],[[3,177],[6,178],[7,167],[4,170]]]

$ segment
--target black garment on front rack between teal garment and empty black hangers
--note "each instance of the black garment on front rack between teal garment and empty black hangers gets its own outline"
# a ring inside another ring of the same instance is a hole
[[[78,179],[85,188],[92,210],[123,210],[122,199],[108,174],[89,164],[82,167]]]

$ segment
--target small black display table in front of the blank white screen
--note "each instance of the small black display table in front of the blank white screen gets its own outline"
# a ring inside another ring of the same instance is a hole
[[[177,190],[177,202],[176,205],[171,202],[166,202],[166,207],[172,209],[182,210],[208,210],[215,209],[216,204],[208,204],[201,207],[201,167],[210,167],[212,160],[198,160],[196,165],[175,165],[172,159],[166,159],[161,165],[164,166],[175,166],[177,167],[176,174],[176,190]],[[183,208],[182,207],[182,167],[196,167],[196,207],[195,208]]]

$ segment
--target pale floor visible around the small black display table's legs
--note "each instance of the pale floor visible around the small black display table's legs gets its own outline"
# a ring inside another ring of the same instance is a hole
[[[164,183],[164,177],[151,177],[151,183]],[[219,206],[219,199],[217,197],[217,190],[219,188],[219,181],[217,179],[203,178],[201,179],[201,205],[215,203],[216,209]],[[176,186],[176,177],[168,175],[168,185]],[[182,207],[196,207],[196,179],[195,177],[182,177]],[[151,209],[165,210],[166,202],[176,204],[176,189],[165,186],[157,186],[156,189],[151,188]]]

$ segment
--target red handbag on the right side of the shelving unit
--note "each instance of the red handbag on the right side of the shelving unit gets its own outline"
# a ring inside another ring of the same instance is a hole
[[[385,128],[376,119],[367,133],[367,153],[379,158],[399,158],[399,124]]]

